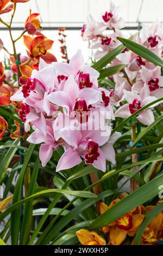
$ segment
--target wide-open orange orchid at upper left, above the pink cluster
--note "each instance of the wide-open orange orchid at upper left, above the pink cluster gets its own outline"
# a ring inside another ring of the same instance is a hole
[[[52,53],[47,52],[52,47],[54,41],[47,39],[44,35],[37,35],[34,38],[24,35],[23,38],[28,56],[33,60],[33,65],[39,62],[40,57],[48,64],[57,61]]]

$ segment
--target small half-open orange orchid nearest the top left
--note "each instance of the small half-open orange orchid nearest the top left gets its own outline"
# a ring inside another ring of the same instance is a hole
[[[31,13],[31,10],[29,11],[29,16],[25,22],[24,28],[28,32],[29,35],[35,35],[37,32],[37,29],[42,29],[40,25],[40,21],[38,19],[39,13]]]

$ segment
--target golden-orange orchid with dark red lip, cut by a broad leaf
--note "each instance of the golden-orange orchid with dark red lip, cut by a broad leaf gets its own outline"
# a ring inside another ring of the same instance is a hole
[[[100,205],[101,214],[111,208],[116,203],[120,202],[121,199],[115,199],[109,206],[104,203]],[[102,231],[106,234],[109,231],[110,242],[112,245],[121,245],[126,239],[127,235],[134,236],[137,228],[143,221],[145,216],[141,214],[141,208],[135,208],[123,216],[117,218],[116,221],[111,222],[106,227],[102,228]]]

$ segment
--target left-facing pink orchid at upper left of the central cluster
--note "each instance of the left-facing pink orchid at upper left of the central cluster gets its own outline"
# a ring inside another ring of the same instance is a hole
[[[39,71],[34,70],[27,83],[11,96],[12,101],[23,101],[34,107],[37,113],[45,112],[52,115],[57,111],[58,106],[52,105],[47,96],[54,90],[55,73],[53,66],[45,65],[40,59]]]

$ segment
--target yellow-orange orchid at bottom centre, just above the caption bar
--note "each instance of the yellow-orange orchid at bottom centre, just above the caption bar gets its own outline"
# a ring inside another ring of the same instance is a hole
[[[79,242],[82,245],[106,245],[105,239],[94,231],[80,229],[76,232]]]

